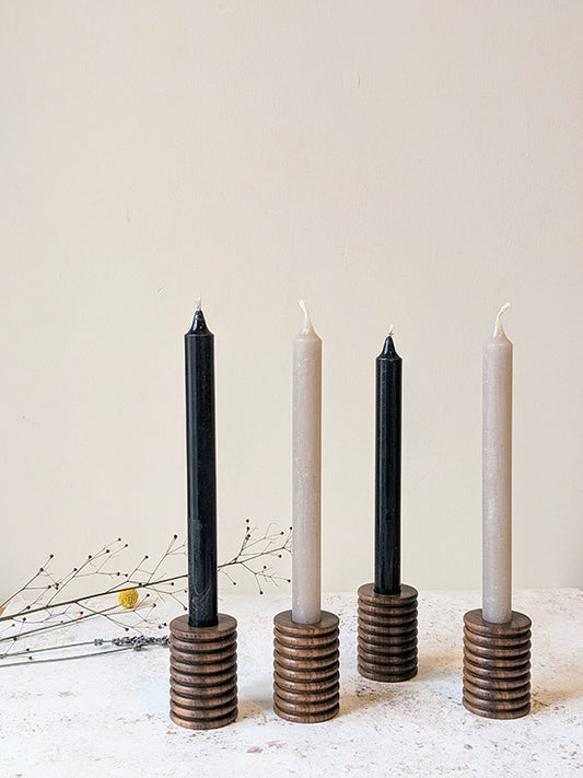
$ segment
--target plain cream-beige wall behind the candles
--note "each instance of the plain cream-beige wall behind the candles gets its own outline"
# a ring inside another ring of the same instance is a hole
[[[515,584],[582,585],[582,24],[580,0],[2,0],[0,594],[48,551],[184,532],[199,294],[221,559],[246,518],[290,522],[304,297],[324,588],[372,579],[392,322],[404,580],[478,587],[480,349],[510,300]]]

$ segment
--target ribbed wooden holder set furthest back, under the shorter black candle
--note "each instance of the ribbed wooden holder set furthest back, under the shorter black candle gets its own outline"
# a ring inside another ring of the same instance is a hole
[[[398,682],[417,675],[417,590],[377,594],[359,589],[359,673],[371,681]]]

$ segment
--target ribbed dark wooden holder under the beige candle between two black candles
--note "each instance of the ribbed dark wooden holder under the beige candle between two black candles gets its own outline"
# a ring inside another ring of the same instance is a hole
[[[273,709],[288,721],[333,719],[340,707],[338,616],[298,624],[291,611],[273,619]]]

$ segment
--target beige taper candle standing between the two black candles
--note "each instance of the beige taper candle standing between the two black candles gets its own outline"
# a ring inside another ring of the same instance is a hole
[[[293,341],[292,619],[320,620],[322,340],[305,304]]]

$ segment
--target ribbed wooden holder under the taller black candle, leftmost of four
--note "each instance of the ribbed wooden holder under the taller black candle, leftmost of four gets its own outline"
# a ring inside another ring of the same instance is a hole
[[[237,717],[237,623],[219,614],[215,627],[170,625],[170,717],[191,730],[211,730]]]

